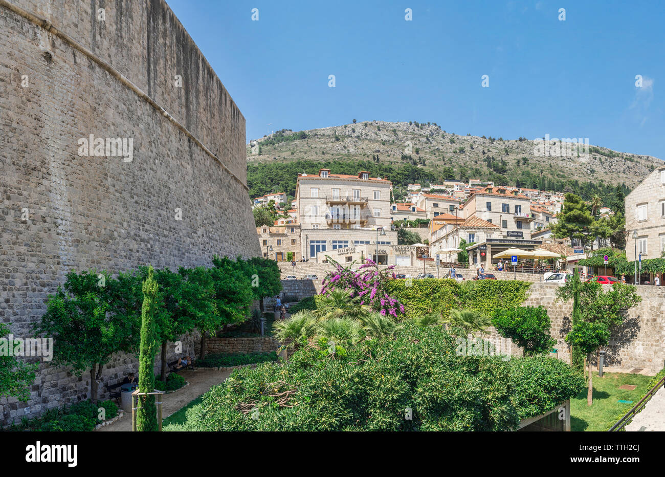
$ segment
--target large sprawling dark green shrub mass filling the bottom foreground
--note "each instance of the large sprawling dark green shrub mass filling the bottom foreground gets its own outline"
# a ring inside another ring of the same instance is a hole
[[[296,351],[289,363],[236,371],[203,395],[183,428],[513,430],[584,387],[559,359],[502,361],[460,355],[457,346],[441,327],[411,324],[394,340],[336,345],[334,359],[321,339]]]

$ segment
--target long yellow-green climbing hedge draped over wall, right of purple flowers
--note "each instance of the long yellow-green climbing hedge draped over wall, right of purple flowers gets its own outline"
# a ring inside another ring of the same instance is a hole
[[[453,279],[391,280],[388,294],[406,308],[409,318],[433,311],[448,317],[450,309],[475,309],[491,316],[501,308],[519,307],[527,298],[531,283],[526,281]]]

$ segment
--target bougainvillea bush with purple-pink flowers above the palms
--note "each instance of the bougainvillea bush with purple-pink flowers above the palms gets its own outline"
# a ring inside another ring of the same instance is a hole
[[[374,261],[365,259],[358,267],[358,271],[353,271],[350,269],[353,263],[348,267],[342,267],[331,257],[326,255],[326,258],[335,269],[323,279],[321,295],[334,289],[350,289],[352,297],[361,298],[360,305],[366,305],[384,316],[392,315],[400,318],[404,315],[404,305],[386,292],[386,283],[395,277],[392,271],[395,265],[380,270]]]

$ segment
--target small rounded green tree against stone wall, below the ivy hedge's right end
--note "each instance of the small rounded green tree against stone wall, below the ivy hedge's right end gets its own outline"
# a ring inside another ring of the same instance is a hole
[[[492,325],[499,335],[523,347],[525,356],[547,353],[557,343],[549,334],[551,321],[543,307],[499,309],[494,313]]]

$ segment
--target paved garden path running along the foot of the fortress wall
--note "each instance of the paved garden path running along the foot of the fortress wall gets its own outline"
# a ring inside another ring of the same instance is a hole
[[[181,371],[179,374],[190,384],[178,389],[175,393],[164,395],[162,418],[167,418],[200,395],[207,393],[211,387],[225,381],[227,377],[231,376],[231,373],[233,371],[205,371],[200,369],[197,371]],[[131,430],[132,412],[125,412],[122,418],[116,420],[110,426],[104,426],[95,432],[131,432]]]

